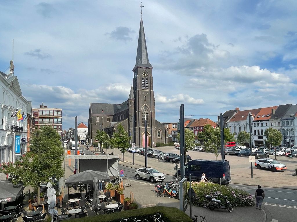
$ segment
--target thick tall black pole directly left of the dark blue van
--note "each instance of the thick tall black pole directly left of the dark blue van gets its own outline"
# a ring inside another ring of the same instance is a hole
[[[181,106],[179,107],[179,147],[180,147],[180,161],[181,161],[181,180],[183,178],[185,178],[185,149],[184,149],[184,145],[185,145],[185,138],[184,138],[184,134],[185,134],[185,128],[184,128],[184,104],[181,104]],[[176,175],[178,176],[178,175]]]

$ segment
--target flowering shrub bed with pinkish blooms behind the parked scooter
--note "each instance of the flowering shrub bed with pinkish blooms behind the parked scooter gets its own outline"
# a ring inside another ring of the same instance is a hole
[[[196,193],[196,199],[192,200],[192,204],[197,207],[207,206],[208,200],[206,200],[206,195],[211,195],[212,198],[220,200],[222,203],[225,203],[224,197],[227,196],[233,207],[255,205],[254,197],[251,194],[244,190],[236,189],[230,186],[192,182],[192,188]]]

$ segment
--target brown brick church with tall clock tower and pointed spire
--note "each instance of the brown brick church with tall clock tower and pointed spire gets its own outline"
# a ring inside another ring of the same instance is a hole
[[[147,124],[147,146],[168,141],[165,126],[155,119],[155,97],[153,91],[153,67],[149,62],[142,17],[140,19],[136,64],[133,68],[133,85],[128,99],[121,104],[90,103],[88,137],[95,142],[97,130],[112,136],[121,124],[131,136],[131,144],[145,146],[144,125]],[[128,96],[128,95],[127,95]]]

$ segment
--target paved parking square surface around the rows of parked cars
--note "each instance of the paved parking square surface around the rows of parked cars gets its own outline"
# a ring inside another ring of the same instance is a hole
[[[179,150],[174,147],[156,147],[156,149],[163,152],[174,152],[179,154]],[[109,151],[108,151],[109,152]],[[112,152],[112,151],[110,151]],[[139,154],[134,154],[134,163],[133,166],[133,154],[126,152],[124,154],[125,162],[122,162],[122,155],[119,149],[115,149],[115,154],[119,154],[120,162],[123,165],[127,165],[134,168],[144,167],[145,161],[144,156]],[[195,159],[205,159],[205,160],[215,160],[215,154],[208,152],[199,152],[199,151],[188,151],[187,155],[192,157],[192,160]],[[274,156],[270,156],[274,158]],[[287,166],[287,170],[283,172],[272,172],[270,170],[258,170],[255,168],[255,163],[252,163],[253,169],[253,178],[251,178],[251,163],[249,162],[248,157],[237,157],[235,155],[226,155],[225,159],[230,162],[231,169],[231,183],[238,184],[248,184],[255,185],[259,184],[261,186],[271,186],[271,187],[283,187],[289,189],[296,189],[297,176],[295,169],[297,168],[297,158],[289,159],[288,157],[277,156],[277,160],[280,163],[283,163]],[[217,160],[221,160],[221,155],[219,154]],[[153,167],[159,170],[162,173],[174,175],[176,170],[174,166],[176,163],[165,162],[163,160],[151,159],[148,158],[148,167]]]

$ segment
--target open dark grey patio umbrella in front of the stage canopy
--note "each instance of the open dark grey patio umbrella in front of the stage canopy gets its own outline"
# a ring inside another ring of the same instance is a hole
[[[97,177],[98,180],[104,180],[105,182],[110,181],[110,176],[106,172],[86,170],[80,173],[70,175],[69,178],[66,179],[65,184],[67,186],[79,184],[92,184],[94,177]]]

